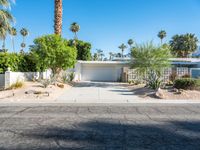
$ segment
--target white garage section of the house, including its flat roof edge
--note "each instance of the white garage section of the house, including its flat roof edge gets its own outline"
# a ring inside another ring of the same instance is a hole
[[[129,67],[129,62],[78,61],[75,66],[75,80],[117,82],[121,80],[124,67]]]

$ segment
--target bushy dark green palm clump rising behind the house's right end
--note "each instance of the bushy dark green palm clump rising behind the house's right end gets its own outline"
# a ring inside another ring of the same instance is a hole
[[[188,57],[198,48],[198,38],[195,34],[187,33],[183,35],[175,35],[170,41],[172,54],[177,57]]]

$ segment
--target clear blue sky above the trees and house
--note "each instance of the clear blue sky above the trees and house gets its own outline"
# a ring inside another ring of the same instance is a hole
[[[91,42],[93,52],[117,52],[129,38],[137,43],[159,43],[157,33],[161,29],[167,31],[166,41],[186,32],[200,39],[200,0],[63,0],[63,5],[63,36],[73,38],[69,26],[78,22],[78,37]],[[11,11],[16,28],[30,31],[26,40],[29,45],[34,38],[53,33],[54,0],[16,0]],[[18,36],[18,50],[21,40]],[[8,37],[7,47],[10,45]]]

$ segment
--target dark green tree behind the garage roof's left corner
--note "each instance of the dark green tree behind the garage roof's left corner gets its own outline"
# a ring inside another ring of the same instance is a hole
[[[92,59],[91,55],[91,44],[88,42],[76,40],[74,45],[74,40],[69,40],[68,42],[70,47],[75,47],[77,49],[77,60],[89,61]]]

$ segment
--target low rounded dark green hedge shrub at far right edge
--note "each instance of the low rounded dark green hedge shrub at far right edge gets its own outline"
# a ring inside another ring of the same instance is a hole
[[[174,81],[174,88],[184,90],[194,90],[198,87],[196,79],[182,78]]]

